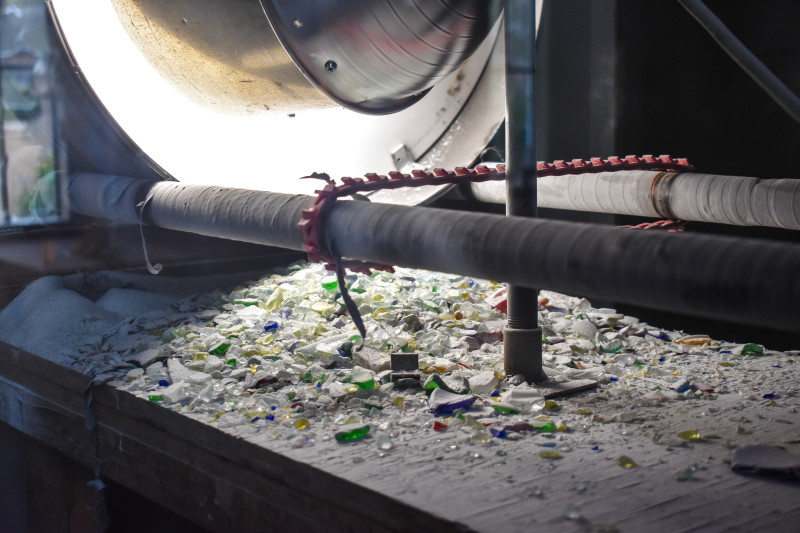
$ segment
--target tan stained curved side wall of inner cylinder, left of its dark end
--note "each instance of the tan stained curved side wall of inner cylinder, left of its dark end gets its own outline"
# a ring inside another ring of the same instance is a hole
[[[142,55],[189,99],[221,113],[333,105],[295,67],[255,0],[112,0]]]

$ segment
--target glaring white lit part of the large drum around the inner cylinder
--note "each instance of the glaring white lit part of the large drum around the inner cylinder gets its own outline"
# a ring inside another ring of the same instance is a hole
[[[242,113],[255,108],[237,101],[228,110],[198,106],[151,66],[111,2],[50,1],[77,75],[137,150],[182,182],[312,193],[316,184],[299,177],[322,170],[334,177],[386,173],[395,170],[391,153],[399,145],[426,169],[468,165],[503,120],[502,44],[495,43],[502,40],[499,20],[470,59],[403,111],[367,115],[335,106],[288,118],[291,104],[276,105],[282,114]],[[208,6],[193,5],[197,11]],[[263,13],[259,17],[266,19]],[[437,193],[377,201],[419,203]]]

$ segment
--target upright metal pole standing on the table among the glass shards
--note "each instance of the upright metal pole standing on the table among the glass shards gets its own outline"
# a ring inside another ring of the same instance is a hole
[[[536,2],[506,0],[506,214],[536,216],[534,73]],[[508,323],[503,330],[507,375],[522,374],[529,383],[547,380],[542,369],[539,291],[508,286]]]

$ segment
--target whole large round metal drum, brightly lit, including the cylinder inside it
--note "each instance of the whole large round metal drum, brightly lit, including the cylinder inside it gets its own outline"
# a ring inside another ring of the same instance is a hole
[[[314,171],[469,165],[505,114],[500,0],[50,5],[87,88],[143,157],[187,183],[313,193],[299,178]]]

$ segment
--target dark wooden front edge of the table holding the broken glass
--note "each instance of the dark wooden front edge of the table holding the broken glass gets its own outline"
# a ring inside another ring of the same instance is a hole
[[[94,468],[90,381],[0,342],[0,420]],[[110,385],[92,394],[102,476],[212,531],[470,531]]]

